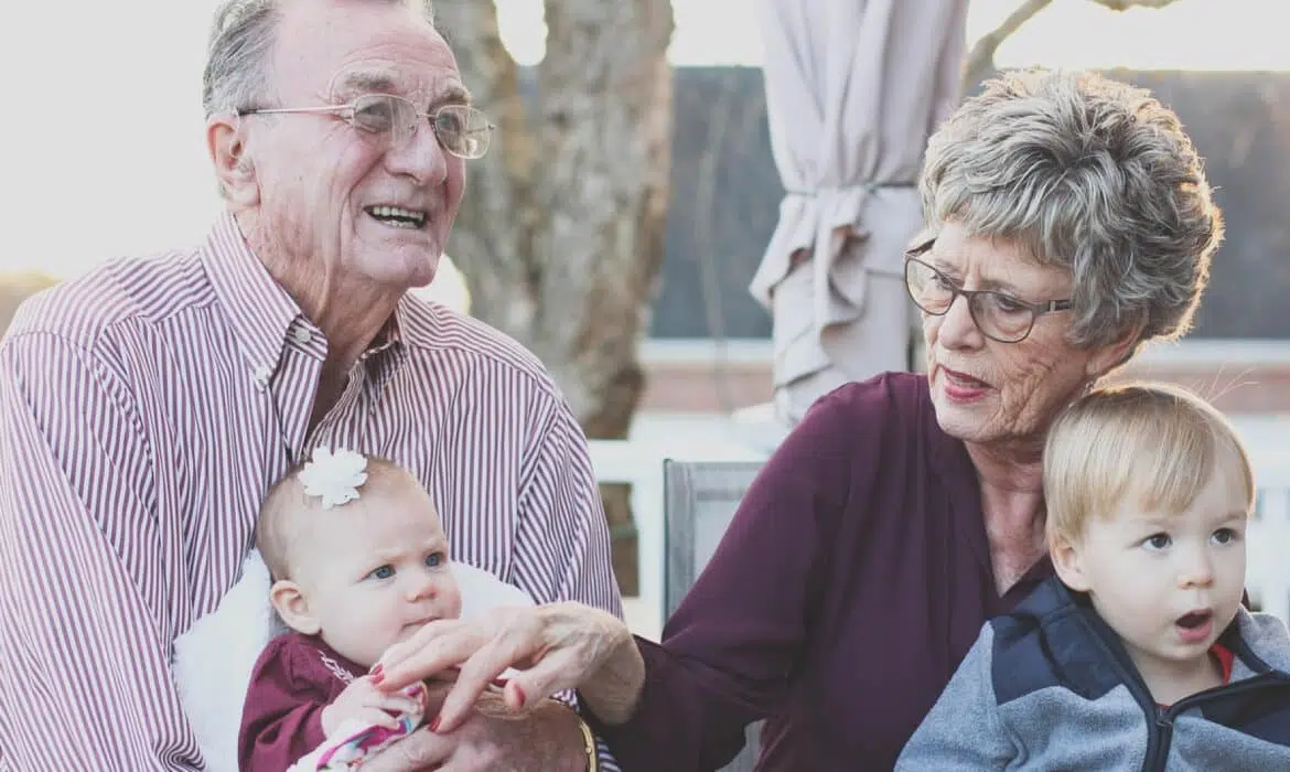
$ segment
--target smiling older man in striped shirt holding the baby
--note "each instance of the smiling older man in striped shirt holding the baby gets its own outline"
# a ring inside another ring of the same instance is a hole
[[[491,129],[428,12],[228,0],[204,97],[227,200],[205,241],[37,296],[0,345],[0,769],[203,766],[173,642],[237,578],[270,482],[319,445],[417,474],[463,562],[620,613],[555,383],[408,293]],[[559,702],[480,707],[369,768],[595,762]]]

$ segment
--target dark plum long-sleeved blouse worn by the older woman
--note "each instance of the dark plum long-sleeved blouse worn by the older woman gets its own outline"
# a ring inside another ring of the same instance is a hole
[[[744,496],[663,630],[645,692],[592,718],[627,772],[716,769],[768,718],[759,769],[890,769],[1000,598],[980,489],[921,376],[823,398]]]

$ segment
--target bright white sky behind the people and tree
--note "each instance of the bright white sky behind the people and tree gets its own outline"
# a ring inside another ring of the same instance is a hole
[[[608,0],[606,0],[608,1]],[[841,1],[841,0],[836,0]],[[969,40],[1020,0],[973,0]],[[757,66],[759,0],[673,0],[677,65]],[[1290,70],[1285,0],[1108,12],[1055,0],[998,63]],[[498,0],[516,58],[542,56],[541,0]],[[192,243],[218,209],[200,77],[213,0],[45,0],[0,10],[6,182],[0,270],[71,275]]]

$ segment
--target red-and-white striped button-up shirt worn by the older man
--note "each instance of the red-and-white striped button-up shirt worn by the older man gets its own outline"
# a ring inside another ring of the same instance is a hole
[[[307,436],[325,351],[227,214],[22,306],[0,343],[0,769],[203,767],[173,643],[319,445],[413,471],[454,559],[620,615],[586,439],[531,354],[405,297]]]

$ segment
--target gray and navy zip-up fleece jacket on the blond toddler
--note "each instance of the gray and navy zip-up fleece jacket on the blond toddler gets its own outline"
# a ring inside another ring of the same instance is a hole
[[[1057,578],[986,624],[898,771],[1290,771],[1290,634],[1241,609],[1228,684],[1157,707],[1124,645]]]

